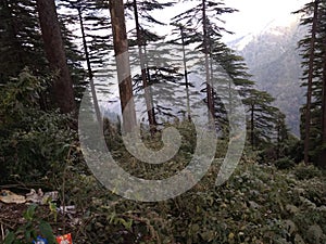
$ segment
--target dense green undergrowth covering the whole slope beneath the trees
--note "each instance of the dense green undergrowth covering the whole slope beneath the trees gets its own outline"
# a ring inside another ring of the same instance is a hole
[[[70,216],[59,211],[53,219],[29,209],[25,226],[4,226],[5,243],[30,243],[41,230],[49,236],[50,230],[54,235],[70,231],[74,243],[80,244],[326,243],[325,171],[289,158],[258,164],[258,153],[247,149],[230,179],[216,187],[228,143],[223,140],[206,176],[175,198],[140,203],[113,194],[87,169],[77,133],[68,126],[72,118],[35,108],[33,101],[39,99],[35,91],[43,91],[40,80],[26,70],[15,87],[1,90],[5,98],[0,104],[1,184],[38,183],[58,190],[57,207],[73,205],[76,211]],[[108,123],[104,134],[112,155],[135,176],[168,177],[191,159],[196,136],[189,123],[173,125],[184,137],[183,144],[162,167],[136,160],[125,151],[118,127]],[[153,150],[162,147],[160,133],[153,139],[143,133],[142,139]]]

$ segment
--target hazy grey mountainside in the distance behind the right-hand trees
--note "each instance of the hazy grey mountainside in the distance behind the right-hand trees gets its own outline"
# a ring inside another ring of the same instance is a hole
[[[299,108],[304,103],[297,42],[303,35],[303,29],[293,16],[287,23],[271,22],[261,31],[228,43],[244,57],[258,88],[268,91],[276,99],[275,105],[286,114],[288,126],[297,136]]]

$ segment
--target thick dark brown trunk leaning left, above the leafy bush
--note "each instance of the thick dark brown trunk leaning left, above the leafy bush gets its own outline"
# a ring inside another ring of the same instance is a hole
[[[53,103],[62,113],[75,112],[73,81],[58,21],[54,0],[37,0],[37,10],[50,68],[58,72],[52,85]]]

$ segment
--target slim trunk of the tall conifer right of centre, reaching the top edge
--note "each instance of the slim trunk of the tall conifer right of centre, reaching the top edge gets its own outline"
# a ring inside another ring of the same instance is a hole
[[[206,74],[206,95],[208,95],[208,106],[209,113],[213,116],[214,119],[214,101],[212,94],[212,82],[210,75],[210,61],[209,61],[209,43],[208,43],[208,27],[206,27],[206,1],[202,0],[202,28],[203,28],[203,50],[205,55],[205,74]]]

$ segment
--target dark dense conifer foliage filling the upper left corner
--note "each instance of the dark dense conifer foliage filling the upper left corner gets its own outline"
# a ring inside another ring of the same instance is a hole
[[[35,1],[0,1],[0,84],[24,67],[47,73]]]

